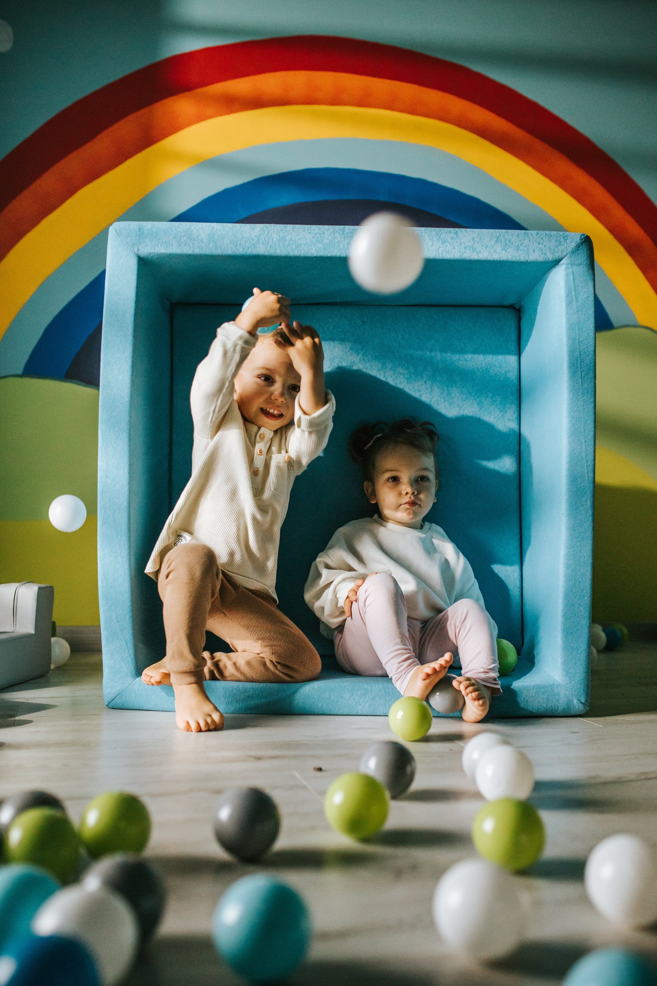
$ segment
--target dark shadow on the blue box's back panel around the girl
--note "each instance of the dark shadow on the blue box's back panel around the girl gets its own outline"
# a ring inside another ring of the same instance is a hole
[[[361,468],[347,452],[347,439],[363,421],[410,416],[431,421],[440,436],[438,501],[427,521],[443,528],[463,551],[500,636],[519,645],[517,434],[472,416],[448,418],[406,390],[357,370],[328,373],[327,387],[337,403],[333,432],[323,457],[296,479],[281,532],[277,578],[281,608],[320,653],[332,653],[331,644],[319,635],[317,618],[299,600],[312,562],[334,531],[374,513],[362,490]],[[486,464],[495,460],[506,463],[507,469]],[[509,468],[510,463],[515,467]],[[495,571],[497,566],[503,568],[504,578]]]

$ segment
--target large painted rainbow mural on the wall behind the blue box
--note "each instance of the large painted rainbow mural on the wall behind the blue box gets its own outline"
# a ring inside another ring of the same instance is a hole
[[[98,385],[116,220],[342,224],[385,205],[425,226],[587,233],[596,327],[657,329],[657,207],[586,136],[463,65],[288,36],[147,65],[0,162],[0,378]]]

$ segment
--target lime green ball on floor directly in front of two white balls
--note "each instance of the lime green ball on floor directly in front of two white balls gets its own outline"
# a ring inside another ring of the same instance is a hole
[[[500,798],[475,815],[472,841],[480,856],[505,870],[526,870],[543,852],[546,830],[533,805]]]

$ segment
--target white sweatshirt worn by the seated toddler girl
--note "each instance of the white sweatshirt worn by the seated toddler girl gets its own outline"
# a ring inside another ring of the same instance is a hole
[[[411,619],[426,622],[458,599],[475,599],[486,608],[468,560],[442,528],[365,518],[338,528],[310,569],[303,598],[319,616],[324,636],[333,638],[346,619],[347,593],[372,572],[397,580]]]

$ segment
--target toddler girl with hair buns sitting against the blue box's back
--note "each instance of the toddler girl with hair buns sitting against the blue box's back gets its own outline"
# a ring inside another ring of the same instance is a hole
[[[403,695],[426,699],[457,655],[463,719],[477,723],[500,693],[497,628],[468,561],[423,521],[436,500],[437,440],[433,425],[410,419],[354,432],[349,451],[378,511],[336,530],[304,598],[334,637],[341,668],[387,674]]]

